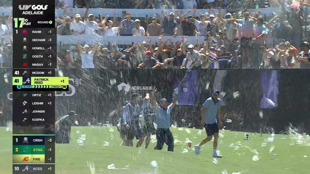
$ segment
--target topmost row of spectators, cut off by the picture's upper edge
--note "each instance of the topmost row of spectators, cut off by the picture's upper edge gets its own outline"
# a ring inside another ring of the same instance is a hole
[[[208,9],[208,8],[267,8],[270,0],[56,0],[56,7],[69,8],[134,8],[134,9]]]

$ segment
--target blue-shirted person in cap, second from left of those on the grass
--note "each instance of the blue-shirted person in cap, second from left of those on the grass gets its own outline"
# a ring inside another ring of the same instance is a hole
[[[142,134],[142,127],[139,124],[139,116],[141,114],[141,107],[138,105],[139,94],[133,93],[131,101],[125,106],[123,113],[123,128],[126,135],[124,140],[125,146],[133,146],[133,139],[138,140],[136,147],[141,147],[144,138]]]

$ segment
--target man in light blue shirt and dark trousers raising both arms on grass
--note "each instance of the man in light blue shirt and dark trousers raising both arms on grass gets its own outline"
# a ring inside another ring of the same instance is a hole
[[[174,140],[172,136],[172,132],[170,131],[170,113],[172,109],[175,107],[179,89],[174,89],[174,98],[170,105],[168,105],[167,99],[162,98],[160,100],[160,106],[156,102],[156,87],[153,87],[153,107],[156,111],[156,124],[157,124],[157,131],[156,131],[156,139],[157,139],[157,145],[154,148],[155,150],[162,150],[162,146],[166,142],[168,146],[168,151],[172,151],[174,149]]]

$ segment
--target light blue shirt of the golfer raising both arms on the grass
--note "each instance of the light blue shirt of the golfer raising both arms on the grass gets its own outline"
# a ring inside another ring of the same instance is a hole
[[[156,119],[155,119],[156,124],[157,124],[157,128],[164,128],[164,129],[170,128],[171,106],[172,106],[172,104],[170,104],[167,107],[167,110],[164,110],[163,108],[159,107],[157,104]]]

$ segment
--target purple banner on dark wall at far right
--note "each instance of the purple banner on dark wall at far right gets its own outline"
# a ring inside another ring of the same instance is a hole
[[[266,70],[261,75],[260,86],[263,98],[260,102],[261,108],[278,107],[279,81],[277,70]]]

